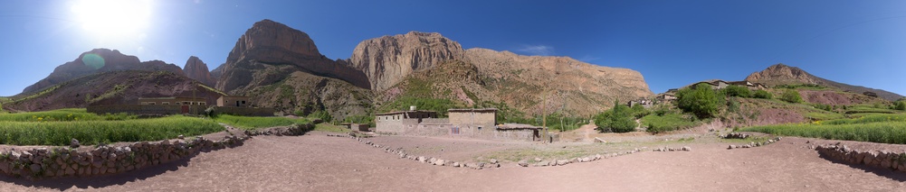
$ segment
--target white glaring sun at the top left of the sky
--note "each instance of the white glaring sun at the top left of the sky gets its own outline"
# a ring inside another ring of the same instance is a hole
[[[82,0],[72,5],[72,14],[98,37],[137,37],[149,27],[151,1]]]

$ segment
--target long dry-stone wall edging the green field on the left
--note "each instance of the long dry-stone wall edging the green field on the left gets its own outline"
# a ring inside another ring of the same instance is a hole
[[[12,148],[9,151],[0,151],[0,173],[31,180],[115,175],[192,158],[202,151],[241,146],[254,135],[302,135],[314,127],[312,124],[301,124],[246,131],[245,135],[236,136],[230,131],[240,134],[242,132],[225,126],[229,135],[219,140],[210,140],[204,136],[186,140],[180,135],[175,140],[120,143],[116,146],[99,145],[88,151],[73,148],[78,147],[77,144],[70,147],[38,147],[24,151]],[[214,134],[218,133],[208,135]]]

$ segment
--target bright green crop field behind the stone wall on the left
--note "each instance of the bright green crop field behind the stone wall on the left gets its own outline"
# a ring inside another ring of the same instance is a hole
[[[223,126],[196,117],[136,119],[127,114],[97,115],[84,109],[0,114],[0,144],[68,145],[141,142],[224,131]]]

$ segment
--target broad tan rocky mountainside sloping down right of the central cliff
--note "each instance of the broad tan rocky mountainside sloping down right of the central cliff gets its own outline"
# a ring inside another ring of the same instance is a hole
[[[508,51],[466,50],[467,62],[475,64],[488,89],[501,101],[540,113],[545,92],[547,111],[565,106],[570,114],[590,115],[610,108],[613,101],[652,96],[641,73],[608,68],[568,57],[522,56]]]

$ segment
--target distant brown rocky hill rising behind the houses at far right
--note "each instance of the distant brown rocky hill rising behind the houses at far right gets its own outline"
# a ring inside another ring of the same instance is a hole
[[[879,97],[895,101],[902,98],[903,96],[895,94],[882,89],[875,89],[870,87],[861,87],[861,86],[852,86],[848,84],[838,83],[832,80],[816,77],[808,72],[805,72],[803,69],[796,67],[790,67],[784,65],[783,63],[775,64],[767,69],[752,73],[746,78],[747,81],[762,83],[767,86],[776,86],[776,85],[791,85],[791,84],[814,84],[824,87],[834,87],[843,89],[845,91],[851,91],[853,93],[865,93],[872,92],[877,94]]]

